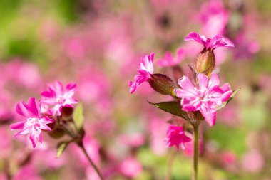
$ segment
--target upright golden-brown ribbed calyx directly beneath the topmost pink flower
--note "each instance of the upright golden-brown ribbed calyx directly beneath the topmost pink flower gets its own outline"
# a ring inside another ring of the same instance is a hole
[[[215,54],[210,48],[204,48],[200,52],[195,61],[195,70],[197,73],[204,73],[205,75],[210,76],[213,69],[215,68]]]

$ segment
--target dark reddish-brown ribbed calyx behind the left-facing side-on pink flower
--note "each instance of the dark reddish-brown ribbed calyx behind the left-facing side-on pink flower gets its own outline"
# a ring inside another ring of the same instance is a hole
[[[150,83],[151,88],[163,95],[175,95],[175,85],[173,80],[171,80],[167,75],[152,74],[150,77],[151,78],[148,80],[148,83]]]

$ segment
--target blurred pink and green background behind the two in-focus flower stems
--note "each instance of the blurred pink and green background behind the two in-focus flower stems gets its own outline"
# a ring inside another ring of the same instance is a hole
[[[21,118],[16,103],[39,99],[55,80],[78,85],[83,140],[106,179],[190,179],[192,144],[165,148],[173,117],[147,102],[170,97],[148,83],[130,95],[128,82],[151,52],[155,73],[172,76],[156,63],[178,48],[188,74],[202,46],[183,38],[196,31],[235,43],[215,50],[215,71],[233,90],[242,88],[214,127],[201,125],[199,179],[270,180],[270,17],[270,0],[0,0],[0,179],[98,179],[76,146],[56,159],[58,140],[44,133],[33,149],[9,128]]]

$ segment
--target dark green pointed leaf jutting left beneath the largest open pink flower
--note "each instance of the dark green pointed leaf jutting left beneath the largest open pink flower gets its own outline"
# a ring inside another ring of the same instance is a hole
[[[159,103],[153,103],[149,102],[150,105],[153,105],[155,107],[158,107],[159,109],[169,112],[172,115],[183,117],[185,120],[190,120],[188,117],[188,113],[182,110],[182,107],[180,106],[180,102],[176,101],[168,101],[168,102],[159,102]]]

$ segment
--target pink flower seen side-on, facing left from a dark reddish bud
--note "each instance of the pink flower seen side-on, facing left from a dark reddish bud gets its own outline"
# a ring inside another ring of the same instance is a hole
[[[139,63],[139,69],[138,69],[138,75],[135,76],[135,81],[130,81],[130,93],[136,91],[138,86],[141,83],[144,83],[148,79],[150,79],[150,75],[153,74],[153,58],[154,53],[151,53],[150,55],[144,55],[141,58],[141,62]]]

